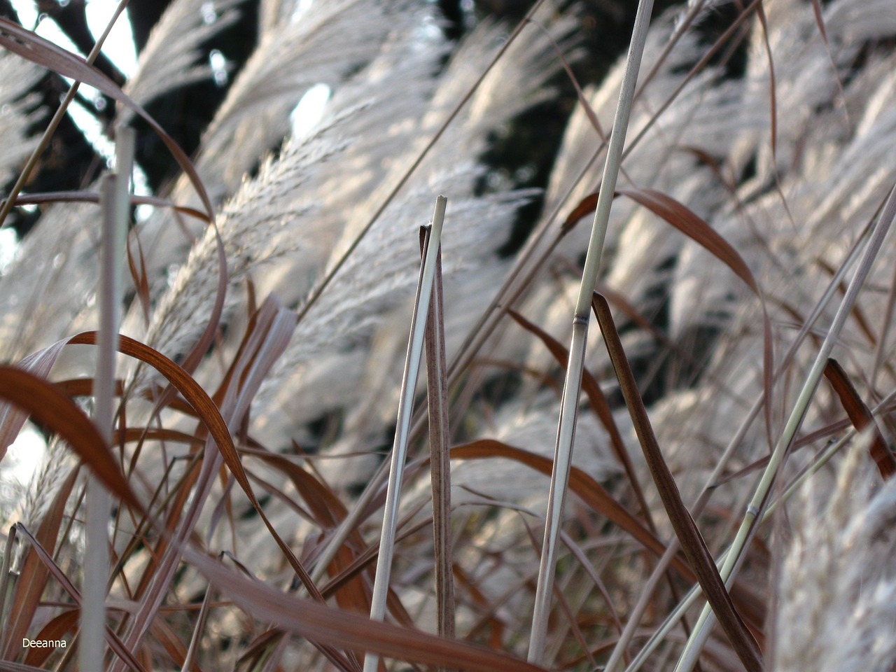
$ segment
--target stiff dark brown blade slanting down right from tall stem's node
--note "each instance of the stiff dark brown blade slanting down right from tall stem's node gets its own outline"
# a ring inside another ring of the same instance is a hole
[[[641,393],[638,392],[628,358],[625,357],[622,341],[619,340],[619,334],[616,332],[616,325],[613,323],[613,316],[610,314],[607,300],[599,294],[595,294],[592,305],[598,318],[600,331],[607,344],[607,352],[613,363],[613,368],[616,370],[616,377],[619,379],[625,405],[628,407],[635,432],[641,442],[644,459],[650,468],[650,474],[657,485],[659,496],[666,508],[669,521],[676,531],[682,550],[694,568],[703,594],[718,616],[719,624],[728,635],[728,639],[737,652],[737,657],[747,670],[761,672],[762,653],[759,650],[759,645],[731,602],[728,590],[719,576],[719,570],[716,568],[710,551],[706,547],[691,513],[688,512],[682,501],[675,478],[672,477],[672,473],[663,459],[662,451],[653,434],[653,428],[650,426],[647,409],[644,408],[644,402],[641,399]]]

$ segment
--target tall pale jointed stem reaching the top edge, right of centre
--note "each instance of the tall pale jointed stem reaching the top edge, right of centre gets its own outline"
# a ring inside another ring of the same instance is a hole
[[[607,147],[607,162],[604,165],[604,174],[600,182],[597,211],[594,213],[588,254],[585,257],[585,268],[582,271],[582,285],[579,288],[579,297],[576,300],[575,314],[573,315],[573,340],[569,347],[563,396],[560,401],[560,421],[557,426],[557,440],[554,449],[554,469],[551,473],[550,492],[547,495],[545,539],[541,548],[535,609],[532,614],[529,662],[536,665],[540,665],[544,658],[547,616],[550,614],[551,593],[554,588],[556,569],[556,549],[560,538],[560,519],[563,514],[564,497],[573,460],[575,418],[579,406],[579,393],[582,390],[582,366],[585,359],[585,345],[588,340],[591,294],[598,280],[610,207],[613,204],[616,178],[622,163],[625,133],[628,130],[628,120],[632,113],[634,89],[638,81],[638,71],[641,68],[641,57],[644,43],[647,40],[647,28],[650,25],[652,11],[653,0],[640,0],[638,12],[634,18],[628,58],[625,63],[622,90],[619,91],[619,102],[616,105],[613,131],[610,134],[610,142]]]

